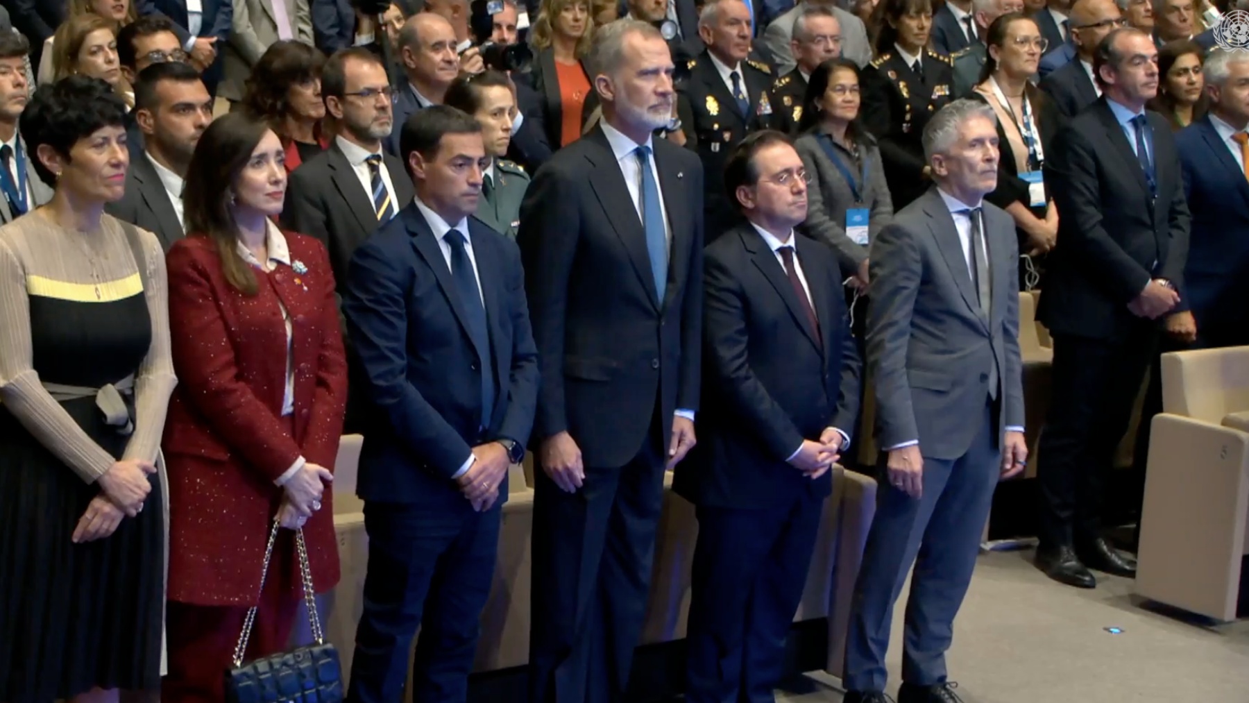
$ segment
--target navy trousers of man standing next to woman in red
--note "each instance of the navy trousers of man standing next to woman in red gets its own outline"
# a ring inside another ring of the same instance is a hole
[[[368,573],[348,701],[398,703],[418,627],[412,702],[467,698],[502,508],[477,513],[467,499],[453,501],[441,507],[365,502]]]

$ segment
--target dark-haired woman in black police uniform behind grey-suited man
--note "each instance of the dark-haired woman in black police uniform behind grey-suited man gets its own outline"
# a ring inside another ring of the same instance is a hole
[[[879,142],[894,210],[931,185],[921,135],[950,100],[949,56],[926,49],[932,0],[881,0],[872,15],[877,57],[862,75],[864,125]]]

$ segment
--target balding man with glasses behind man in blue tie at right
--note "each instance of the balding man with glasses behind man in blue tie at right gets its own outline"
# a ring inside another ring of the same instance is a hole
[[[1072,7],[1075,55],[1040,81],[1040,89],[1054,99],[1063,116],[1074,117],[1102,96],[1102,89],[1093,80],[1093,56],[1105,35],[1123,25],[1123,15],[1114,0],[1078,0]]]

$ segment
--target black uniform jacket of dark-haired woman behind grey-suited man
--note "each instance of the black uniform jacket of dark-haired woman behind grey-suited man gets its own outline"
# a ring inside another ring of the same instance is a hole
[[[928,119],[950,101],[949,56],[924,50],[923,79],[897,51],[888,51],[863,69],[863,125],[881,145],[884,180],[897,212],[931,185],[921,140]]]

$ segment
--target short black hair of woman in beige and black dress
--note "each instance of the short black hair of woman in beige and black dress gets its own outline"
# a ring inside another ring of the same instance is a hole
[[[100,79],[72,75],[56,82],[45,84],[30,96],[21,111],[19,130],[31,154],[40,145],[47,145],[62,159],[79,140],[91,136],[102,127],[121,127],[126,124],[126,104],[112,86]],[[31,159],[39,179],[56,186],[56,176],[36,156]]]

